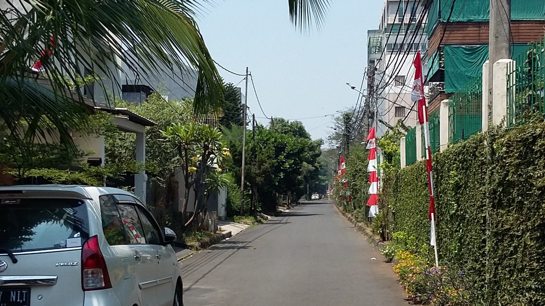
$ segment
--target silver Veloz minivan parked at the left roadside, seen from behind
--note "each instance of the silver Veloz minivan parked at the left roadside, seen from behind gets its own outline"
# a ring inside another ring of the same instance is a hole
[[[121,189],[0,187],[0,305],[183,305],[175,239]]]

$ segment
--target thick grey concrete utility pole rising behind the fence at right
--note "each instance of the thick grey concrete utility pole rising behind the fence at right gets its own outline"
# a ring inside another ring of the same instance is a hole
[[[511,0],[490,0],[488,35],[488,119],[492,118],[494,63],[511,58]]]

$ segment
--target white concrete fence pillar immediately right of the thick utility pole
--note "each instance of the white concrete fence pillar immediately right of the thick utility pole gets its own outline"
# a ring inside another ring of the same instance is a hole
[[[514,64],[514,60],[512,59],[500,59],[493,66],[492,124],[494,126],[497,126],[502,121],[507,123],[507,67]],[[514,81],[514,72],[511,73],[509,78],[511,78],[511,82]]]

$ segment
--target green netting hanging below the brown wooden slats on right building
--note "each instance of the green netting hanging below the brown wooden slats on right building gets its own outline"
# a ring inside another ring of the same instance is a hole
[[[513,44],[511,57],[516,58],[528,51],[529,48],[530,45]],[[482,72],[482,64],[488,60],[488,45],[445,46],[443,49],[445,54],[445,92],[460,90]]]

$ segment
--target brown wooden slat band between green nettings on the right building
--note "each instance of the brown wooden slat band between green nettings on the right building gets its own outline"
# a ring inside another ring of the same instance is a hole
[[[445,29],[446,27],[446,29]],[[443,32],[445,35],[443,36]],[[512,21],[512,42],[532,42],[545,35],[545,21]],[[488,22],[442,22],[429,38],[428,59],[441,45],[488,45]],[[443,38],[443,41],[441,41]]]

